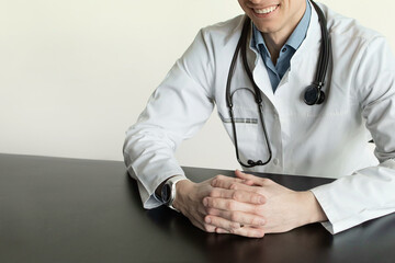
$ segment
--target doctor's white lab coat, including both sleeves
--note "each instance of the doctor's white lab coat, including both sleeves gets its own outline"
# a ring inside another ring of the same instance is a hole
[[[275,93],[261,56],[247,50],[273,152],[269,164],[249,171],[338,179],[312,190],[329,219],[324,227],[337,233],[395,211],[395,60],[382,35],[320,7],[332,50],[324,104],[303,102],[320,48],[314,9],[306,38]],[[145,208],[160,205],[153,194],[162,181],[184,174],[174,159],[177,146],[203,126],[214,104],[233,139],[225,88],[241,26],[240,15],[200,31],[127,130],[125,163],[136,175]],[[232,90],[238,88],[252,89],[240,57]],[[235,95],[235,117],[258,121],[236,124],[241,159],[266,160],[257,105],[246,90]]]

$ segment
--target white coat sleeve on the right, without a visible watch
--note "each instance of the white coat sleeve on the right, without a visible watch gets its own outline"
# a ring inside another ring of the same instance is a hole
[[[365,44],[354,90],[380,164],[312,190],[331,233],[395,211],[395,59],[384,37]]]

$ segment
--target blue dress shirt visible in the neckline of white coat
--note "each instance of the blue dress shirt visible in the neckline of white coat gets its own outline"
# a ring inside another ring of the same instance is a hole
[[[290,36],[290,38],[286,41],[284,46],[281,48],[280,56],[276,60],[276,64],[274,66],[273,61],[271,60],[270,53],[268,50],[268,47],[264,43],[263,36],[260,33],[260,31],[256,27],[255,24],[252,24],[252,42],[251,47],[255,48],[262,57],[264,66],[267,67],[269,79],[273,89],[273,92],[275,92],[275,89],[278,88],[282,77],[285,75],[286,70],[290,68],[291,65],[291,58],[297,50],[297,48],[301,46],[302,42],[305,39],[309,20],[312,16],[312,7],[306,0],[306,11],[297,24],[296,28]]]

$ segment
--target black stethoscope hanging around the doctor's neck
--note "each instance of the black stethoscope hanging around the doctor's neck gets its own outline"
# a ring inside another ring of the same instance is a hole
[[[325,101],[325,93],[321,90],[321,88],[324,87],[324,83],[325,83],[325,77],[326,77],[326,72],[328,69],[329,57],[330,57],[331,50],[330,50],[329,33],[327,30],[327,22],[326,22],[325,15],[323,13],[323,10],[314,1],[311,1],[311,2],[313,3],[313,7],[318,14],[323,41],[321,41],[320,50],[319,50],[318,66],[317,66],[315,80],[311,85],[308,85],[305,89],[303,98],[304,98],[304,102],[307,105],[315,105],[315,104],[321,104]],[[269,163],[270,160],[272,159],[272,150],[271,150],[271,146],[270,146],[270,142],[268,139],[268,133],[267,133],[264,122],[263,122],[261,93],[260,93],[260,90],[259,90],[257,83],[255,82],[255,80],[252,78],[252,72],[247,62],[247,55],[246,55],[247,38],[248,38],[247,35],[248,35],[249,28],[251,26],[250,24],[251,24],[251,20],[248,16],[246,16],[244,25],[242,25],[241,35],[237,43],[235,54],[232,59],[229,73],[228,73],[228,78],[227,78],[227,83],[226,83],[226,104],[227,104],[227,107],[229,108],[232,128],[233,128],[233,134],[234,134],[234,138],[235,138],[236,157],[237,157],[237,161],[242,167],[246,167],[246,168],[252,168],[256,165],[264,165],[264,164]],[[260,121],[262,124],[264,139],[267,142],[267,149],[268,149],[269,157],[264,162],[262,160],[253,161],[253,160],[249,159],[247,161],[247,163],[244,163],[239,157],[237,134],[236,134],[236,124],[235,124],[235,117],[234,117],[234,111],[233,111],[233,95],[235,92],[230,93],[230,82],[232,82],[232,77],[235,71],[235,66],[236,66],[237,57],[238,57],[240,49],[241,49],[241,59],[242,59],[242,65],[244,65],[245,71],[247,72],[247,76],[250,79],[252,87],[253,87],[253,92],[251,91],[251,93],[253,93],[256,103],[258,105],[259,117],[260,117]]]

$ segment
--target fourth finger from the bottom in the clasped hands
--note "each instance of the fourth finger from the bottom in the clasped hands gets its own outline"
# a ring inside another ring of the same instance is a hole
[[[263,195],[244,190],[213,188],[210,193],[210,196],[216,198],[228,198],[241,203],[250,203],[257,205],[262,205],[266,203],[266,197]]]

